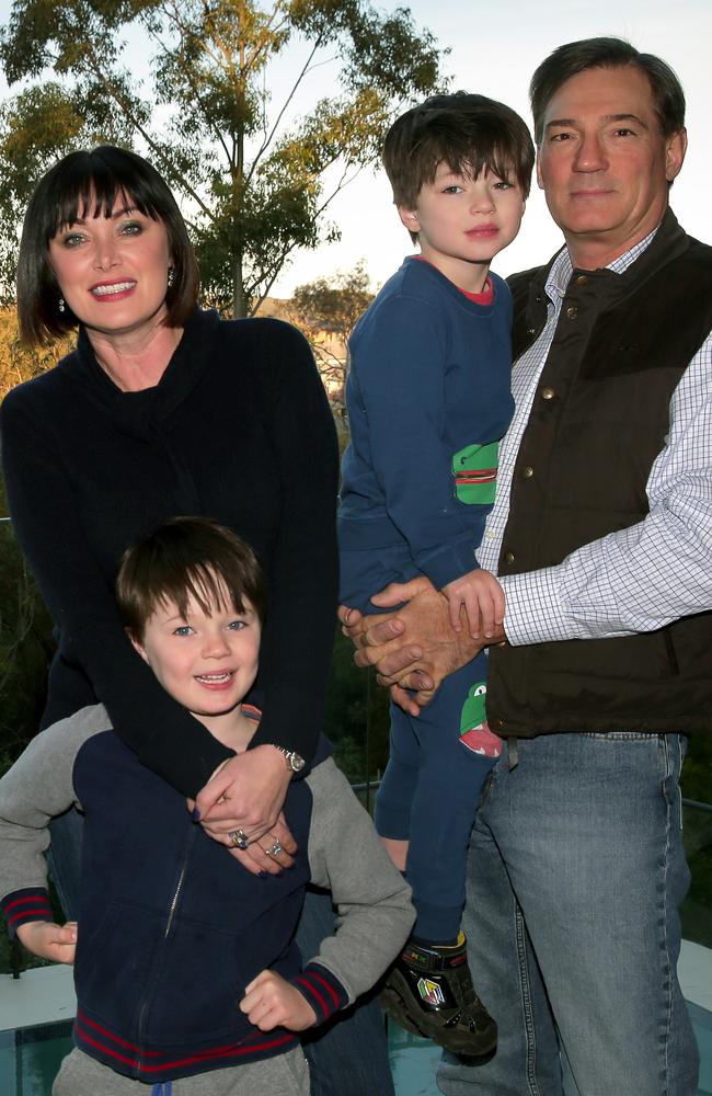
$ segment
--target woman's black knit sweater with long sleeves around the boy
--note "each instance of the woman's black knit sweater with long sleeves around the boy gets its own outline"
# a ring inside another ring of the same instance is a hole
[[[337,453],[301,335],[196,312],[159,385],[123,392],[80,332],[74,353],[9,393],[0,425],[14,528],[57,631],[45,726],[102,700],[140,760],[191,796],[231,754],[131,650],[113,596],[127,545],[204,514],[267,574],[252,745],[311,757],[334,630]]]

